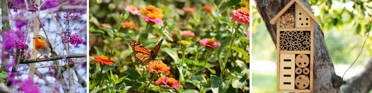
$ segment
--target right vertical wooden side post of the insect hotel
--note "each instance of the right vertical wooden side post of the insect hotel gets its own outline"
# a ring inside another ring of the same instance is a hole
[[[310,92],[312,92],[312,80],[314,71],[314,20],[311,19],[311,31],[310,31]]]

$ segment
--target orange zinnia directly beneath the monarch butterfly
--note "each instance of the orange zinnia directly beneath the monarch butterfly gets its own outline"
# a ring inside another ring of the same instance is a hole
[[[163,73],[165,75],[169,75],[169,71],[170,68],[167,67],[167,64],[164,64],[163,61],[161,60],[157,60],[157,61],[153,61],[152,62],[153,64],[150,64],[150,63],[147,63],[149,66],[146,67],[147,70],[151,69],[154,71],[154,73]]]

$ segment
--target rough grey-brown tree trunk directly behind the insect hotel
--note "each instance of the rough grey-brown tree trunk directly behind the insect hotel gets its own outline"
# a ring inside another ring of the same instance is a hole
[[[267,31],[269,32],[274,44],[276,45],[276,24],[270,24],[276,14],[280,12],[291,0],[255,0],[256,7],[262,19],[265,22]],[[300,0],[308,10],[311,10],[307,0]],[[276,47],[275,47],[276,48]],[[340,88],[334,88],[332,76],[336,76],[333,62],[331,60],[327,45],[324,41],[324,35],[319,25],[314,23],[314,78],[313,91],[314,93],[339,93]],[[336,78],[336,81],[342,81],[341,78]],[[341,82],[342,84],[342,82]]]

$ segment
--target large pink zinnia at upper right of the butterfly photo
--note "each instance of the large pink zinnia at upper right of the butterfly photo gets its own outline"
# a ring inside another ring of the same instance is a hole
[[[243,22],[246,23],[246,26],[249,26],[249,10],[241,7],[238,10],[232,11],[231,15],[233,22],[238,22],[239,24],[242,24]]]

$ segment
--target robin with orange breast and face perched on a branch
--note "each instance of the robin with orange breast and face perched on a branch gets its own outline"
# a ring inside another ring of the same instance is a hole
[[[48,58],[49,53],[55,54],[55,52],[52,51],[52,45],[50,45],[49,40],[47,38],[44,38],[44,36],[36,35],[32,39],[35,39],[33,46],[35,47],[36,51],[41,54],[39,57],[41,57],[42,55],[47,55]]]

